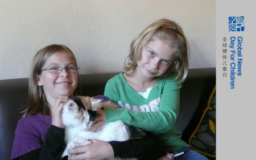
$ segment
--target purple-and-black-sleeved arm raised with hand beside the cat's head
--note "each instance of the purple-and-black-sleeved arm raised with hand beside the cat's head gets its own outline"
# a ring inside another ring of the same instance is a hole
[[[26,119],[19,121],[15,133],[16,140],[14,141],[15,149],[18,151],[14,150],[14,152],[19,155],[21,153],[26,154],[21,155],[18,159],[60,159],[65,147],[65,130],[61,120],[61,111],[67,100],[67,97],[59,98],[55,106],[52,107],[52,125],[46,133],[42,133],[42,130],[39,129],[40,124],[31,123],[33,124],[31,125],[30,121],[26,121]],[[41,120],[39,117],[32,121],[35,120],[38,123],[47,124],[46,120]],[[42,134],[46,134],[44,141],[42,140]],[[23,150],[23,148],[25,149]],[[38,154],[38,149],[40,154]],[[27,153],[27,151],[29,152]]]

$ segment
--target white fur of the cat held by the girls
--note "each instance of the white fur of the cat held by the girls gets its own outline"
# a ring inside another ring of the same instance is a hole
[[[100,100],[91,99],[91,101],[93,110],[97,110],[97,104],[100,103]],[[89,139],[102,141],[126,141],[129,139],[129,132],[122,121],[106,123],[104,128],[98,132],[89,131],[88,111],[79,111],[79,106],[73,100],[69,100],[64,105],[62,120],[65,126],[65,141],[67,142],[62,157],[69,155],[67,153],[69,149],[90,144]]]

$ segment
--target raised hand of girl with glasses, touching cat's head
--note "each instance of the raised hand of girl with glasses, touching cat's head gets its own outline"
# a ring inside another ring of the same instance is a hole
[[[59,97],[57,99],[57,102],[55,103],[55,106],[53,106],[51,109],[52,111],[52,125],[55,125],[60,128],[64,128],[62,119],[61,119],[61,113],[63,110],[63,106],[65,103],[68,102],[68,96],[65,97]]]

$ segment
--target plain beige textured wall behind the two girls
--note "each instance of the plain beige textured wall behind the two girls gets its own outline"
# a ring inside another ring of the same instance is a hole
[[[213,0],[0,0],[0,79],[28,77],[34,54],[52,43],[73,50],[80,74],[121,71],[131,40],[159,18],[183,27],[189,68],[216,65]]]

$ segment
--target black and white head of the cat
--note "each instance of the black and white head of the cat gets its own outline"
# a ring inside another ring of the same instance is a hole
[[[87,130],[96,119],[97,112],[88,110],[80,98],[72,97],[63,107],[62,119],[65,127],[82,126]]]

